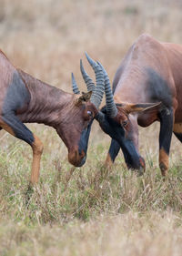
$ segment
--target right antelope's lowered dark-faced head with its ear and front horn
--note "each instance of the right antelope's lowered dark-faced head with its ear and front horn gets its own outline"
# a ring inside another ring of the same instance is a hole
[[[97,64],[102,67],[100,63]],[[96,114],[100,127],[115,139],[123,151],[128,169],[145,170],[145,160],[138,152],[137,115],[143,111],[153,111],[160,103],[122,103],[115,102],[109,77],[102,67],[105,78],[106,106]]]

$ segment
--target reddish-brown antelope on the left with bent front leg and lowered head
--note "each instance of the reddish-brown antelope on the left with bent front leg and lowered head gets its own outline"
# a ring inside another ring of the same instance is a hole
[[[90,128],[104,94],[104,73],[92,65],[96,73],[96,88],[86,81],[91,92],[79,95],[72,74],[75,94],[66,93],[35,79],[15,68],[0,51],[0,128],[23,139],[33,149],[31,182],[39,178],[43,144],[23,123],[43,123],[56,129],[68,149],[68,160],[76,167],[86,161]]]

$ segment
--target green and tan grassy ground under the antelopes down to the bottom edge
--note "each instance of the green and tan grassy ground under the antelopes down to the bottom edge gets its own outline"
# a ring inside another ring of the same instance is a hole
[[[99,144],[71,175],[66,161],[45,153],[31,190],[30,152],[8,140],[0,159],[0,255],[181,255],[180,162],[165,181],[153,159],[143,177],[121,158],[106,172]]]

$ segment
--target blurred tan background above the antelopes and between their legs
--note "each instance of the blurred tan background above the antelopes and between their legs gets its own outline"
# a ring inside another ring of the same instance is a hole
[[[85,51],[106,67],[112,82],[126,50],[139,35],[148,33],[160,41],[181,44],[181,25],[182,0],[0,0],[0,48],[5,55],[16,67],[68,92],[71,72],[80,89],[86,90],[79,71],[80,58],[94,77]],[[53,129],[35,124],[30,127],[47,144],[45,152],[65,152]],[[90,144],[95,147],[102,142],[108,148],[110,139],[96,122],[93,130]],[[157,133],[158,125],[140,129],[143,155],[153,154],[157,159]],[[7,138],[15,139],[3,132],[0,136],[2,147]],[[174,158],[180,147],[174,139]]]

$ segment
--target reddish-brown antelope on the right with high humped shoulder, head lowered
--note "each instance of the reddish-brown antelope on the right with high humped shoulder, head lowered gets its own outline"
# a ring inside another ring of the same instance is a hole
[[[106,107],[98,112],[100,127],[112,138],[106,166],[121,148],[130,169],[145,170],[138,152],[137,124],[160,122],[159,167],[167,174],[172,133],[182,142],[182,46],[139,36],[116,71],[113,93],[105,72]],[[104,70],[104,68],[103,68]]]

